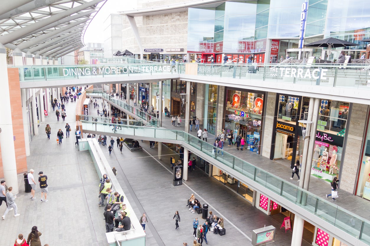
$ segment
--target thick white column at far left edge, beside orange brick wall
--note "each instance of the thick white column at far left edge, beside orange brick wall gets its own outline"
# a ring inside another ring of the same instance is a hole
[[[5,47],[0,44],[0,75],[3,95],[0,97],[0,105],[10,105],[8,69],[6,64]],[[13,187],[13,193],[19,193],[16,153],[13,140],[13,122],[11,119],[11,107],[3,107],[3,114],[0,117],[0,148],[1,160],[3,163],[4,179],[8,187]],[[25,133],[26,134],[26,133]]]

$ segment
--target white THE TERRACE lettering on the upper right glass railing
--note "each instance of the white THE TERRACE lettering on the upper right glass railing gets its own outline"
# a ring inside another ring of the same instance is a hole
[[[326,79],[327,69],[310,69],[310,68],[295,68],[295,67],[271,67],[270,76],[280,77],[295,77],[295,78],[305,78],[305,79]]]

